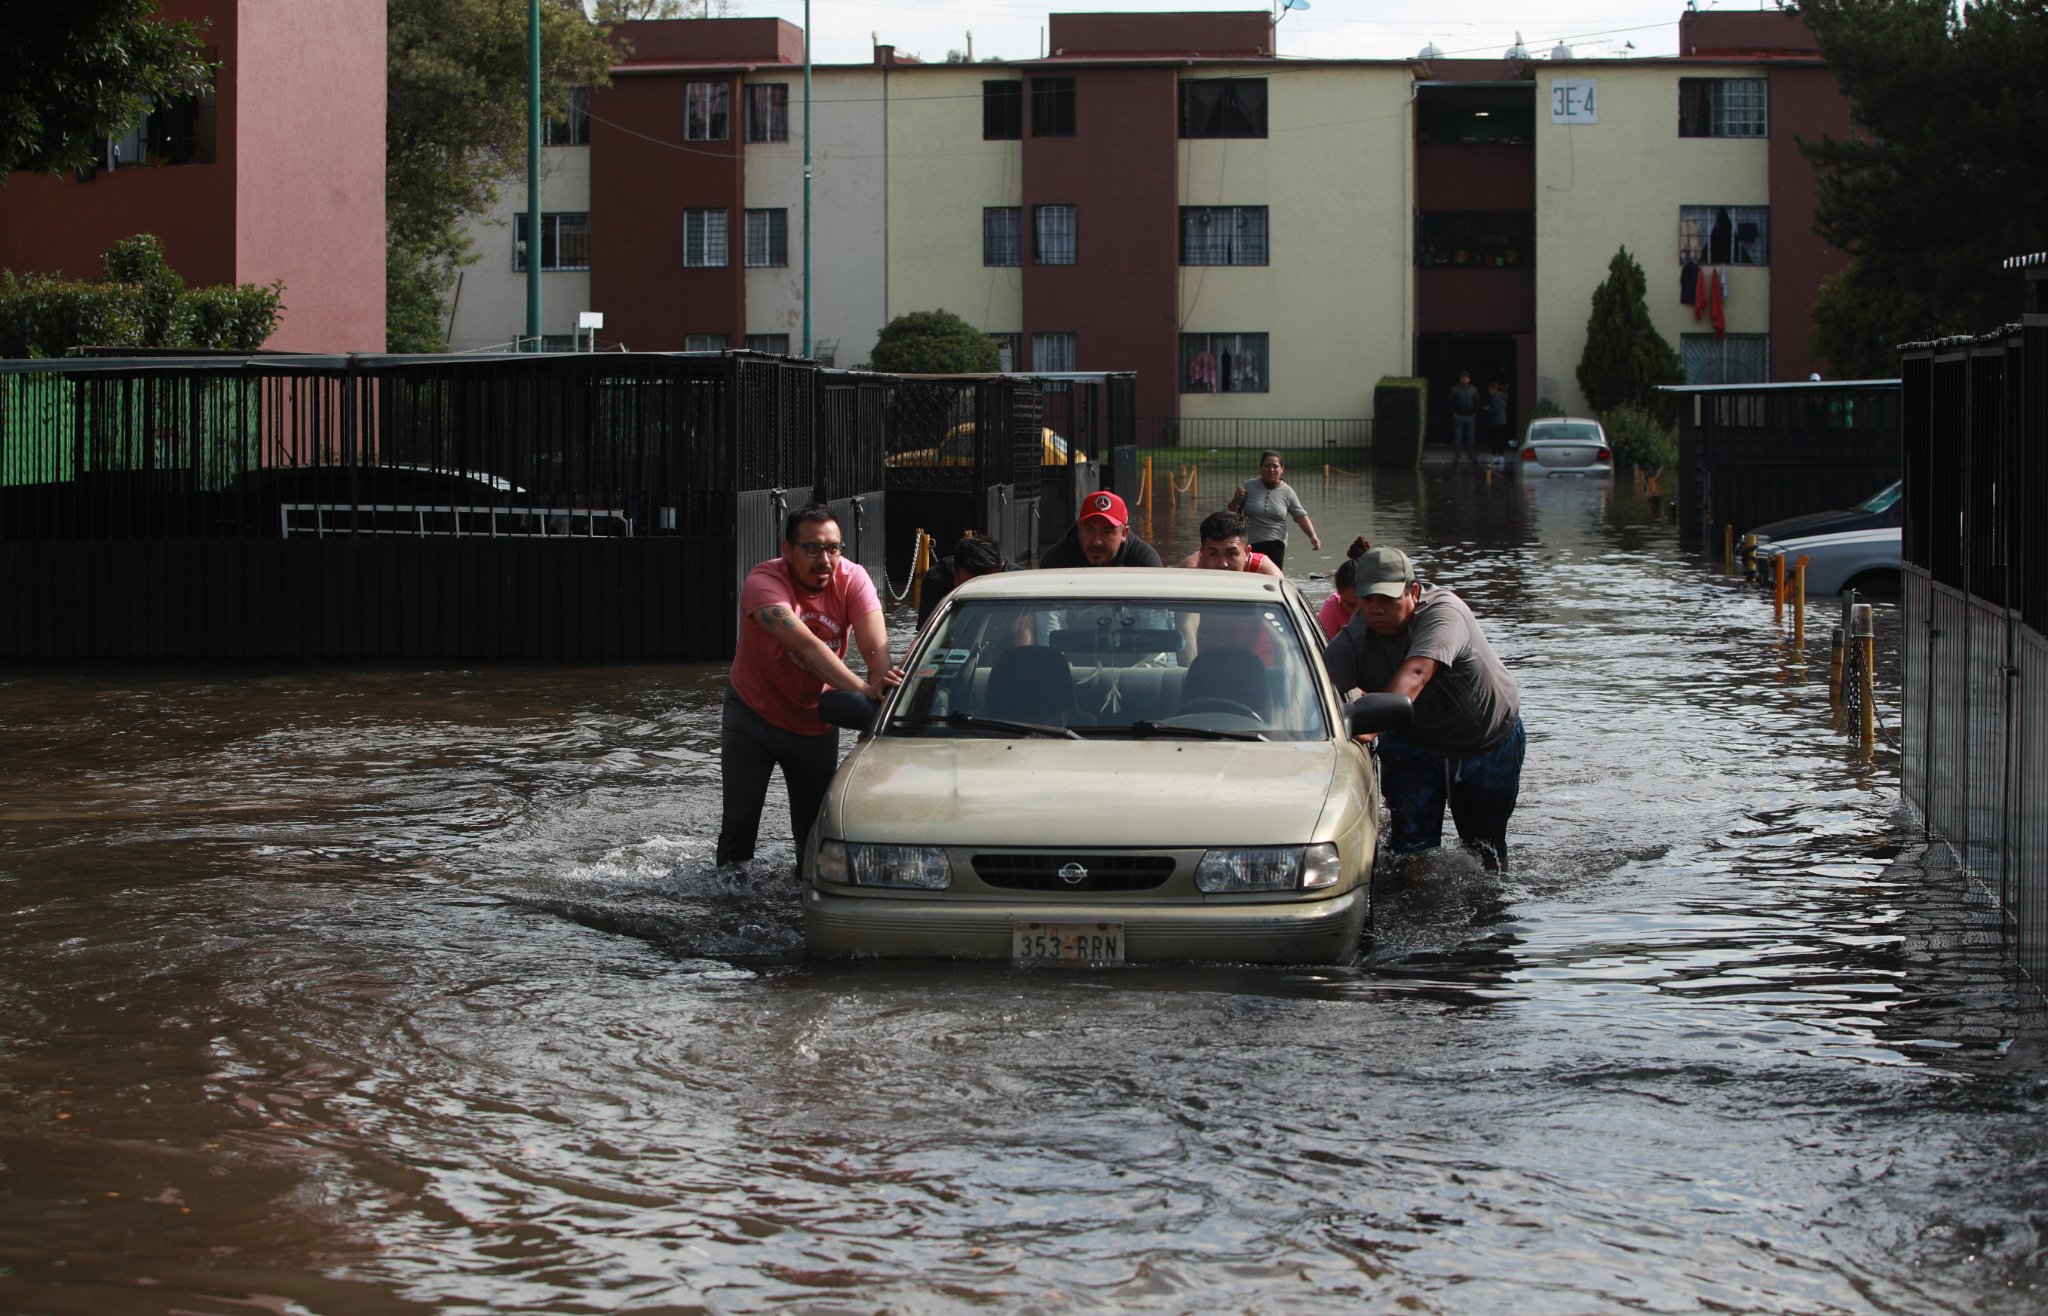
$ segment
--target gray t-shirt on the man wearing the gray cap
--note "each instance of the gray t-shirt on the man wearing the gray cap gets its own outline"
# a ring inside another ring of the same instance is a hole
[[[1401,739],[1446,759],[1462,759],[1499,745],[1513,731],[1522,692],[1493,653],[1479,618],[1450,589],[1423,585],[1407,630],[1382,637],[1366,626],[1360,608],[1323,649],[1323,665],[1339,692],[1386,690],[1411,657],[1438,661],[1436,675],[1415,700],[1415,722]]]

